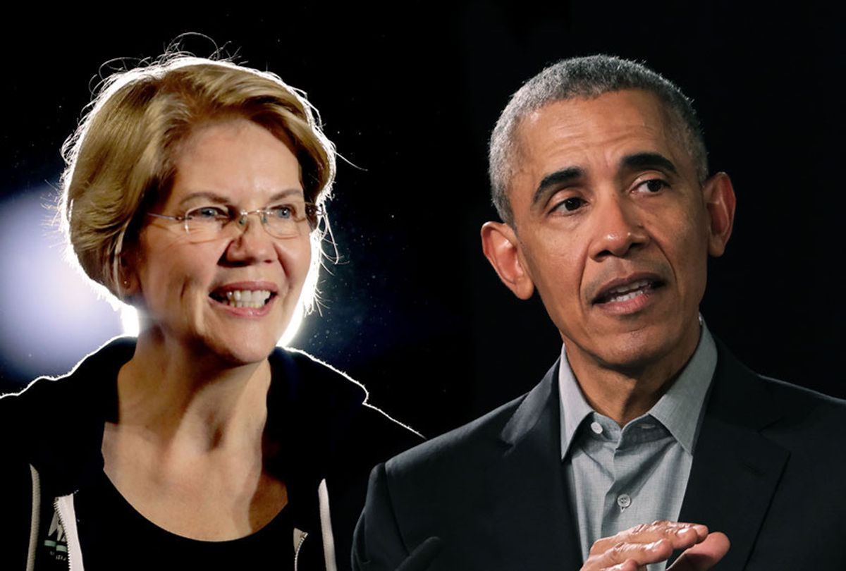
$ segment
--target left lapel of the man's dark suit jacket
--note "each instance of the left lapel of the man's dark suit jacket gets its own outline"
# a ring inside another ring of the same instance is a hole
[[[503,548],[519,559],[503,560],[503,569],[581,567],[578,528],[574,524],[561,464],[558,363],[526,395],[501,433],[503,501],[498,502],[496,535],[519,541]],[[505,547],[505,546],[503,546]]]

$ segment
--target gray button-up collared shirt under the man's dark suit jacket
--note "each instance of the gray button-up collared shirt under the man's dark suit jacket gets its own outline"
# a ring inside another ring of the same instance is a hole
[[[704,321],[699,344],[655,406],[622,429],[591,409],[561,350],[561,451],[582,560],[593,542],[636,524],[677,520],[717,346]],[[663,571],[666,563],[649,565]]]

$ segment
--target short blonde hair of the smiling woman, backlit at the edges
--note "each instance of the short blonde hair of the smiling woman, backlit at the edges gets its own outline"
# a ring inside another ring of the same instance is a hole
[[[82,269],[118,299],[124,242],[136,238],[146,209],[170,190],[179,144],[207,121],[239,117],[260,124],[292,146],[305,200],[322,205],[331,194],[335,147],[305,94],[275,74],[168,55],[109,76],[89,109],[62,147],[67,167],[59,211]]]

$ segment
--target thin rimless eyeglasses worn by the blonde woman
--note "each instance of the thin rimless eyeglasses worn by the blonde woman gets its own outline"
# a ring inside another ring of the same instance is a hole
[[[294,202],[266,206],[257,210],[239,210],[231,206],[197,206],[186,211],[183,216],[168,216],[147,212],[151,217],[164,218],[175,222],[183,222],[185,233],[191,242],[208,242],[225,238],[230,235],[231,228],[239,228],[242,232],[247,228],[247,217],[258,214],[261,225],[273,238],[294,238],[305,232],[308,223],[308,233],[317,228],[323,216],[323,209],[313,202]],[[236,222],[236,224],[230,224]]]

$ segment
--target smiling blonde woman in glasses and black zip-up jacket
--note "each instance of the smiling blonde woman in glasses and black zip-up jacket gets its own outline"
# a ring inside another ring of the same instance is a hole
[[[309,103],[166,58],[107,80],[65,151],[70,245],[141,331],[0,400],[0,568],[348,568],[369,470],[418,436],[275,348],[335,173]]]

